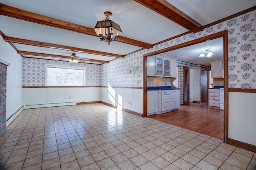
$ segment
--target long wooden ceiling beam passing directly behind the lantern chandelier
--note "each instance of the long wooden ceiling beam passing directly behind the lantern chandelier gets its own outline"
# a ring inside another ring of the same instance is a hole
[[[85,27],[85,26],[67,22],[67,21],[58,20],[55,18],[36,14],[33,12],[28,12],[28,11],[14,8],[11,6],[7,6],[7,5],[1,4],[1,3],[0,3],[0,15],[99,37],[95,33],[93,28]],[[96,21],[95,21],[95,23],[96,23]],[[147,48],[147,49],[150,49],[153,47],[153,45],[150,45],[148,43],[144,43],[141,41],[137,41],[137,40],[122,37],[122,36],[120,36],[115,41],[130,44],[130,45],[135,45],[135,46],[143,47],[143,48]]]

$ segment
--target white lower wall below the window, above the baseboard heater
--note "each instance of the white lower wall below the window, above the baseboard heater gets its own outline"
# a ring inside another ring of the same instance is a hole
[[[23,105],[100,101],[100,87],[23,88]]]

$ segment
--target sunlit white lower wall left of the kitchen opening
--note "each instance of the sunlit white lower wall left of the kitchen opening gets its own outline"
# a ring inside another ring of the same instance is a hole
[[[142,114],[142,92],[142,89],[102,87],[100,100]]]

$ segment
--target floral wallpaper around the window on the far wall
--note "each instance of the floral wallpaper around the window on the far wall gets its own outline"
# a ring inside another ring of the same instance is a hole
[[[22,86],[45,86],[45,64],[60,64],[72,66],[72,63],[63,61],[23,58]],[[100,86],[100,65],[76,63],[76,66],[86,68],[86,86]]]

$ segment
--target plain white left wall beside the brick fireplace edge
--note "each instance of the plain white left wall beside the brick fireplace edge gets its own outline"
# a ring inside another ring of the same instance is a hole
[[[10,63],[7,67],[6,118],[22,107],[22,57],[0,36],[0,59]]]

